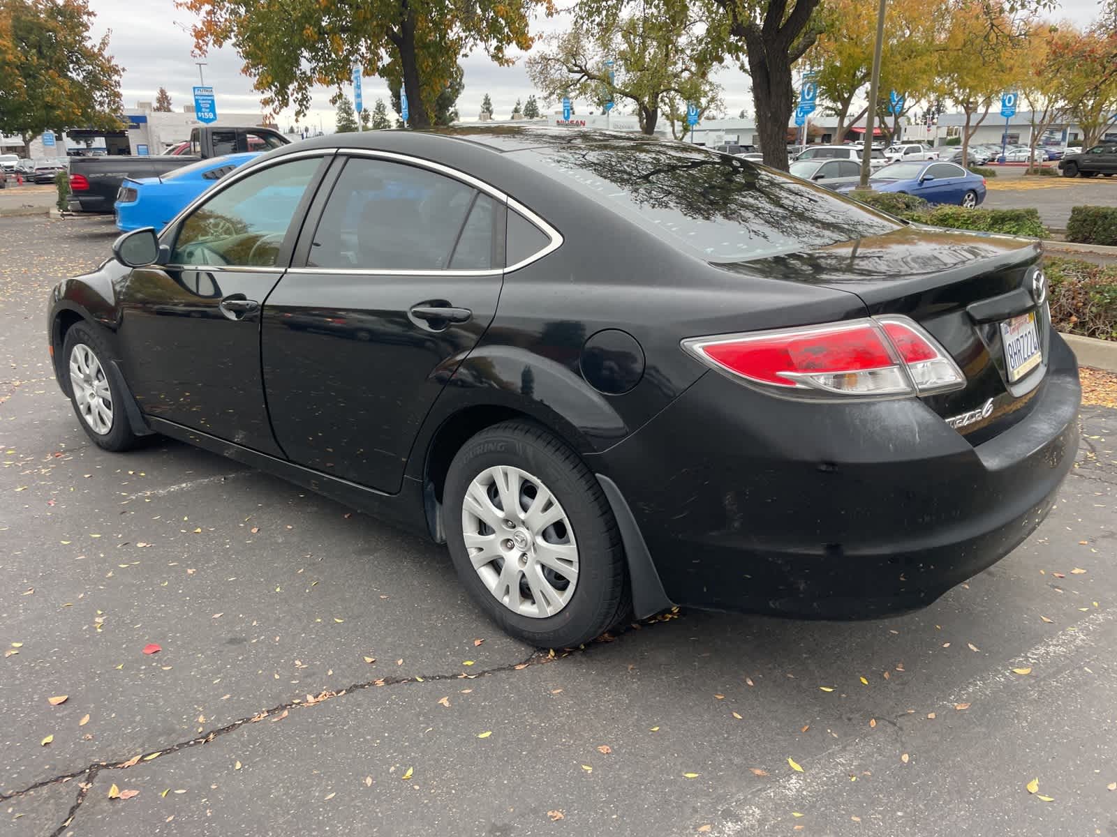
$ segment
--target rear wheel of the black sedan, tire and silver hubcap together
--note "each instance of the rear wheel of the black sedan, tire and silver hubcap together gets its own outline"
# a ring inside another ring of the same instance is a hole
[[[442,509],[458,577],[506,633],[589,642],[629,612],[617,521],[596,478],[543,429],[504,422],[458,451]]]

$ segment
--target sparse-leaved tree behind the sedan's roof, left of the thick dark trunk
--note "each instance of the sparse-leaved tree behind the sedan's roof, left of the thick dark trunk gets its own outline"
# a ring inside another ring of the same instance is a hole
[[[703,22],[682,0],[604,0],[579,9],[569,31],[551,36],[547,48],[527,59],[527,75],[547,99],[628,99],[640,129],[652,134],[668,95],[698,102],[715,93]]]

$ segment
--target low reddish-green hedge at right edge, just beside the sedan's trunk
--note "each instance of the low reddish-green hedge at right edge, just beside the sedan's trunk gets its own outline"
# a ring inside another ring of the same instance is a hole
[[[1051,324],[1060,331],[1117,340],[1117,267],[1049,259]]]

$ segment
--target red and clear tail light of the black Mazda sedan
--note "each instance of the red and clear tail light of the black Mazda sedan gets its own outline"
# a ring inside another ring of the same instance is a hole
[[[722,372],[804,395],[928,395],[965,385],[957,364],[907,317],[696,337],[682,347]]]

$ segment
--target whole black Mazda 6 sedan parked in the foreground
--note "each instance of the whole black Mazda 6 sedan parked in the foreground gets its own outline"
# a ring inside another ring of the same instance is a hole
[[[561,128],[266,154],[59,283],[104,449],[161,433],[446,542],[509,633],[672,604],[865,617],[1039,526],[1075,359],[1035,241]]]

